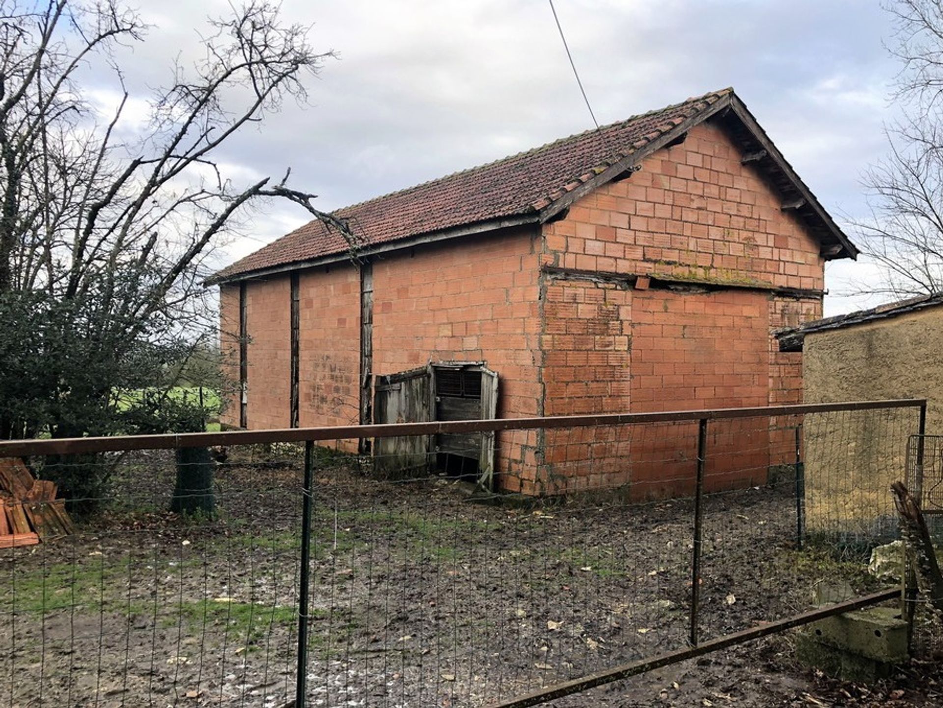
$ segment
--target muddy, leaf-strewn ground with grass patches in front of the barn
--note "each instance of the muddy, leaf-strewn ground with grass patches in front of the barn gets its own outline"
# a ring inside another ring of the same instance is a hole
[[[294,696],[301,463],[233,454],[215,519],[164,509],[166,455],[125,459],[69,539],[0,551],[0,705],[265,706]],[[792,486],[704,507],[699,636],[875,582],[795,548]],[[444,478],[377,482],[319,462],[308,697],[317,706],[486,706],[686,646],[693,507],[595,498],[473,502]],[[775,636],[557,700],[558,706],[939,705],[916,663],[869,688],[796,665]]]

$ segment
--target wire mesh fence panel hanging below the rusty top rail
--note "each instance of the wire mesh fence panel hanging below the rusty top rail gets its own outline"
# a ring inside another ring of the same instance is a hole
[[[356,438],[227,445],[187,491],[211,514],[167,510],[173,450],[106,452],[73,534],[0,549],[0,704],[276,708],[301,676],[308,705],[482,706],[786,618],[822,582],[880,586],[889,492],[865,483],[903,475],[918,418],[503,422],[491,489],[426,428],[384,478]]]

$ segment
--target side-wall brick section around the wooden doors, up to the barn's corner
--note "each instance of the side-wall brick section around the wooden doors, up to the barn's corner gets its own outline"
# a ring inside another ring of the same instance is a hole
[[[373,371],[484,361],[499,376],[498,417],[538,415],[540,331],[536,233],[519,230],[430,245],[373,264]],[[536,433],[499,434],[499,483],[535,472]]]

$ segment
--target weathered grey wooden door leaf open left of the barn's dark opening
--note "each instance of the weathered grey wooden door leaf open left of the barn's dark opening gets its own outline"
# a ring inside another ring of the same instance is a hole
[[[432,368],[378,376],[374,385],[376,423],[427,423],[433,420]],[[408,479],[427,473],[432,461],[432,436],[376,438],[373,469],[388,479]]]

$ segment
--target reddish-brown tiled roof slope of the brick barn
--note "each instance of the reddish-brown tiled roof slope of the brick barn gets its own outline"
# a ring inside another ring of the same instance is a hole
[[[525,153],[438,180],[347,206],[334,216],[347,219],[360,246],[375,246],[505,217],[537,214],[623,157],[643,149],[687,119],[706,111],[733,89],[723,89],[565,137]],[[347,241],[319,220],[256,250],[211,279],[311,261],[349,250]]]

